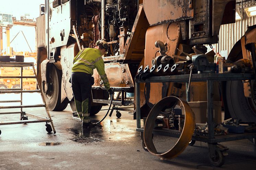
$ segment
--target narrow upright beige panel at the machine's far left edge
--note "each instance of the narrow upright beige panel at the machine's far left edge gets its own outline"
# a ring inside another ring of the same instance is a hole
[[[36,18],[36,45],[37,48],[46,47],[45,42],[45,15]]]

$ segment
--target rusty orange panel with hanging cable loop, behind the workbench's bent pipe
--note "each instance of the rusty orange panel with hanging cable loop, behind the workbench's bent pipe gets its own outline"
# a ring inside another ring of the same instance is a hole
[[[145,63],[152,67],[152,60],[160,55],[159,48],[155,47],[155,42],[160,40],[167,44],[167,55],[175,54],[180,41],[182,40],[180,34],[179,22],[165,23],[162,25],[151,26],[146,33],[146,47],[145,47]],[[172,86],[172,84],[171,84]],[[166,96],[170,83],[146,83],[146,102],[152,107],[153,104]],[[153,90],[152,90],[153,89]]]

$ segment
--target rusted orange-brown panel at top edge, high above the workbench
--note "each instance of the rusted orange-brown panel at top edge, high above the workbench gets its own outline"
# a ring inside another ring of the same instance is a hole
[[[191,0],[146,0],[143,9],[150,25],[193,18]]]

